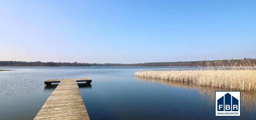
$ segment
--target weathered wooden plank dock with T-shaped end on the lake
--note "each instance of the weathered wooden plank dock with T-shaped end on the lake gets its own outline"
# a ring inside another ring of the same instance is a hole
[[[91,79],[56,79],[45,84],[60,82],[35,116],[34,120],[90,120],[76,82],[92,82]]]

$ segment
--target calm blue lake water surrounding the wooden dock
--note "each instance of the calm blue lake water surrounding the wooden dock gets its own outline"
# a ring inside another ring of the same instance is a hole
[[[256,119],[256,94],[243,92],[241,117],[215,117],[214,91],[184,82],[136,78],[147,67],[0,67],[0,120],[32,120],[57,84],[47,79],[92,78],[79,84],[91,120]],[[193,68],[192,68],[193,69]]]

